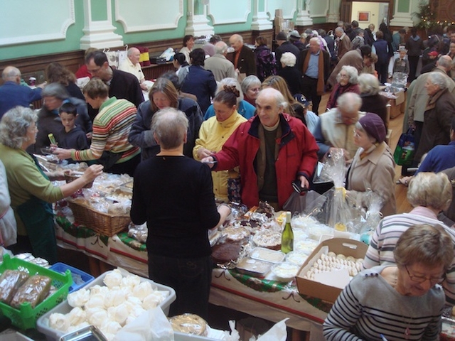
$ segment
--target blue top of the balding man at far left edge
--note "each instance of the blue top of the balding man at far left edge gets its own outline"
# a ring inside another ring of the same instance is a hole
[[[16,82],[5,82],[0,87],[0,119],[4,113],[18,105],[28,108],[32,102],[41,99],[41,87],[18,85]]]

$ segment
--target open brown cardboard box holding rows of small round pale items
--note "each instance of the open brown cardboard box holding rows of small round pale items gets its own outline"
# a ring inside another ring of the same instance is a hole
[[[306,259],[304,265],[301,266],[296,276],[299,293],[334,303],[343,289],[304,278],[306,272],[311,268],[311,265],[319,258],[318,255],[322,247],[328,247],[328,251],[335,252],[336,254],[344,254],[345,256],[353,256],[354,258],[364,258],[367,253],[368,245],[353,239],[327,239],[321,242],[316,249],[313,250],[308,259]]]

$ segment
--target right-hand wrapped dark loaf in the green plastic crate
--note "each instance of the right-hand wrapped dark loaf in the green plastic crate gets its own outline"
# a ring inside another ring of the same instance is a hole
[[[14,294],[11,307],[19,309],[21,303],[28,302],[31,308],[35,308],[48,296],[51,283],[52,280],[48,276],[31,276]]]

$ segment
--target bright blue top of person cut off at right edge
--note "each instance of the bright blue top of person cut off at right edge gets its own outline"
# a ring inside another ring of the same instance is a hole
[[[455,141],[450,141],[448,145],[439,145],[432,148],[424,161],[419,166],[419,172],[438,173],[444,169],[455,167]]]

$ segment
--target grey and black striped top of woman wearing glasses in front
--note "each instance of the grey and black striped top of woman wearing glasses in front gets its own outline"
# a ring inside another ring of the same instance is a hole
[[[422,296],[405,296],[375,266],[355,276],[323,323],[326,340],[439,340],[444,293],[436,285]],[[408,330],[408,332],[407,332]],[[406,338],[407,335],[407,338]]]

